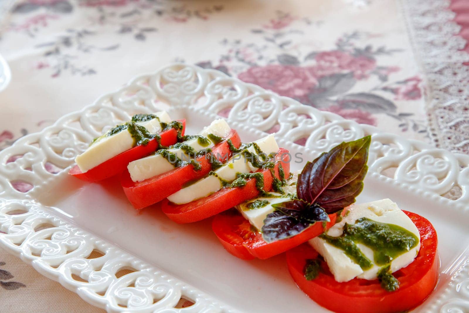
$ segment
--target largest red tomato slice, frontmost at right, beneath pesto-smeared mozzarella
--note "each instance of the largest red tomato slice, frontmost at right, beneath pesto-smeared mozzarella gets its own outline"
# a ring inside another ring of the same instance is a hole
[[[416,225],[421,247],[411,264],[393,273],[400,282],[398,290],[386,291],[378,280],[355,278],[348,282],[336,282],[324,261],[318,277],[306,280],[303,272],[306,260],[318,257],[318,252],[308,244],[287,252],[288,270],[293,280],[319,305],[339,313],[402,312],[421,304],[438,282],[437,233],[424,217],[407,211],[404,213]]]

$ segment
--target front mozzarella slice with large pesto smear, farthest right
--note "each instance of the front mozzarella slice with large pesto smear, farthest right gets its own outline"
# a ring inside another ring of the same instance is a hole
[[[351,205],[348,207],[348,215],[342,221],[335,224],[327,231],[328,236],[338,237],[342,235],[345,223],[355,224],[355,221],[366,217],[373,221],[387,224],[394,224],[407,229],[420,239],[420,234],[410,218],[401,211],[401,209],[390,199],[383,199],[369,203]],[[352,261],[347,254],[340,248],[327,243],[324,239],[316,237],[309,241],[309,244],[324,257],[331,273],[337,282],[348,282],[355,277],[367,280],[377,279],[378,271],[382,266],[375,264],[373,251],[371,248],[357,244],[362,253],[373,263],[368,270],[363,270],[358,264]],[[419,243],[411,248],[408,252],[404,252],[391,262],[391,271],[395,272],[402,267],[408,266],[417,256],[420,249]]]

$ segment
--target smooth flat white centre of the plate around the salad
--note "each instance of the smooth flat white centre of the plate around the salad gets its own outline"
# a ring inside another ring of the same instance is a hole
[[[172,118],[186,119],[189,134],[202,130],[215,117],[190,109],[168,112]],[[250,131],[238,132],[243,142],[259,139]],[[304,161],[292,162],[293,170],[316,157],[300,151],[295,144],[283,146],[292,155],[302,153]],[[433,223],[439,235],[442,269],[450,266],[468,245],[468,229],[463,223],[454,223],[460,214],[387,183],[368,177],[357,203],[382,198],[391,198],[401,209],[421,214]],[[238,260],[219,244],[211,230],[211,219],[178,225],[158,205],[137,212],[123,194],[118,178],[89,184],[63,176],[39,196],[38,202],[242,312],[289,312],[292,308],[296,312],[327,312],[296,287],[284,254],[269,260]]]

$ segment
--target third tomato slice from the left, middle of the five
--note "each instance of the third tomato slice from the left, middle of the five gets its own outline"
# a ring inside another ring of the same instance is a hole
[[[290,155],[287,149],[280,148],[273,161],[275,161],[274,174],[277,178],[279,178],[279,164],[282,165],[285,176],[290,175]],[[264,176],[264,190],[271,190],[273,179],[270,169],[259,169],[257,172]],[[208,197],[182,205],[172,204],[166,199],[162,202],[161,208],[163,213],[176,223],[191,223],[226,211],[258,195],[256,179],[251,178],[242,187],[223,188]]]

